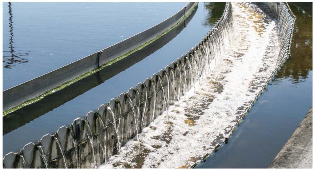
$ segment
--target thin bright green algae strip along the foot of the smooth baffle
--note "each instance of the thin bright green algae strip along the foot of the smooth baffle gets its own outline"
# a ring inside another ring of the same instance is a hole
[[[65,87],[67,87],[67,86],[69,86],[69,85],[72,85],[74,82],[77,82],[77,81],[79,81],[79,80],[81,80],[81,79],[83,79],[83,78],[85,78],[85,77],[88,77],[89,75],[92,75],[92,74],[94,74],[94,73],[100,71],[101,69],[104,69],[106,66],[109,66],[109,65],[111,65],[111,64],[113,64],[113,63],[115,63],[115,62],[117,62],[117,61],[119,61],[119,60],[121,60],[121,59],[123,59],[123,58],[125,58],[125,57],[127,57],[127,56],[129,56],[130,54],[132,54],[132,53],[134,53],[134,52],[136,52],[136,51],[141,50],[143,47],[146,47],[146,46],[149,45],[150,43],[152,43],[152,42],[156,41],[157,39],[161,38],[162,36],[164,36],[165,34],[167,34],[170,30],[173,30],[175,27],[177,27],[179,24],[181,24],[181,23],[192,13],[192,11],[195,10],[195,7],[197,6],[197,4],[198,4],[198,3],[195,3],[195,4],[194,4],[194,6],[192,7],[192,9],[189,11],[189,13],[186,14],[186,16],[185,16],[183,19],[181,19],[178,23],[176,23],[176,24],[175,24],[174,26],[172,26],[170,29],[164,31],[164,32],[163,32],[162,34],[160,34],[159,36],[156,36],[156,37],[153,38],[152,40],[150,40],[150,41],[146,42],[145,44],[143,44],[143,45],[141,45],[141,46],[135,48],[134,50],[132,50],[132,51],[130,51],[130,52],[128,52],[128,53],[126,53],[126,54],[124,54],[124,55],[122,55],[122,56],[120,56],[120,57],[118,57],[118,58],[116,58],[116,59],[114,59],[114,60],[112,60],[112,61],[110,61],[110,62],[108,62],[108,63],[103,64],[103,65],[100,66],[98,69],[95,69],[95,70],[90,71],[90,72],[88,72],[88,73],[86,73],[86,74],[83,74],[83,75],[81,75],[81,76],[75,78],[74,80],[71,80],[71,81],[69,81],[69,82],[67,82],[67,83],[65,83],[65,84],[63,84],[63,85],[61,85],[61,86],[59,86],[59,87],[54,88],[53,90],[50,90],[50,91],[47,92],[47,93],[42,94],[41,96],[38,96],[38,97],[36,97],[36,98],[34,98],[34,99],[31,99],[31,100],[29,100],[29,101],[26,101],[26,102],[20,104],[20,105],[17,106],[17,107],[14,107],[14,108],[12,108],[12,109],[9,109],[9,110],[3,112],[3,113],[2,113],[2,116],[5,116],[5,115],[7,115],[7,114],[9,114],[9,113],[12,113],[12,112],[14,112],[14,111],[16,111],[16,110],[19,110],[19,109],[22,108],[22,107],[25,107],[25,106],[30,105],[30,104],[32,104],[32,103],[35,103],[35,102],[37,102],[37,101],[40,101],[40,100],[42,100],[44,97],[46,97],[46,96],[48,96],[48,95],[51,95],[51,94],[53,94],[54,92],[57,92],[57,91],[59,91],[59,90],[65,88]]]

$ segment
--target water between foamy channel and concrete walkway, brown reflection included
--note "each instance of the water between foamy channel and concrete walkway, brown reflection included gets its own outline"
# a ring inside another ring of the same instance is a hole
[[[312,107],[312,3],[289,6],[296,16],[291,58],[228,144],[197,168],[267,168]]]

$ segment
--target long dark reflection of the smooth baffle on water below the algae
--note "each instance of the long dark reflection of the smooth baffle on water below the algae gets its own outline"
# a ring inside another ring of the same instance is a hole
[[[198,6],[192,12],[192,14],[185,20],[185,23],[181,23],[175,29],[168,32],[165,36],[157,39],[146,47],[139,51],[129,55],[116,63],[109,65],[108,67],[100,70],[99,72],[92,74],[82,80],[79,80],[72,85],[59,90],[49,96],[46,96],[42,100],[35,102],[31,105],[23,107],[15,112],[12,112],[3,117],[3,135],[11,132],[20,126],[40,117],[41,115],[53,110],[56,107],[74,99],[75,97],[85,93],[86,91],[104,83],[106,80],[121,73],[125,69],[131,67],[135,63],[138,63],[142,59],[156,52],[162,48],[165,44],[171,41],[177,36],[187,25],[194,14],[197,11]],[[18,120],[18,121],[17,121]]]

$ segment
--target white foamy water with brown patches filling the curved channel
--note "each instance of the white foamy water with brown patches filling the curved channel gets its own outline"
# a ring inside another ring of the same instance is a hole
[[[224,140],[276,68],[277,21],[253,3],[232,3],[234,37],[175,106],[100,168],[189,167]],[[207,75],[207,76],[205,76]]]

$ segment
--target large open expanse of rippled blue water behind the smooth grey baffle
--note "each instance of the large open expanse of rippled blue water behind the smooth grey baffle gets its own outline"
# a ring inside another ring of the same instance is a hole
[[[3,3],[3,90],[167,19],[177,3]]]

